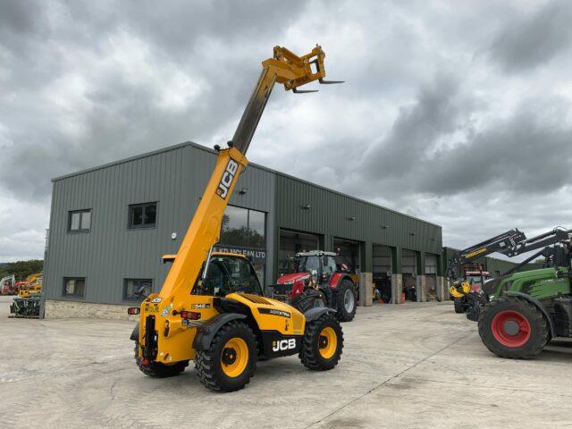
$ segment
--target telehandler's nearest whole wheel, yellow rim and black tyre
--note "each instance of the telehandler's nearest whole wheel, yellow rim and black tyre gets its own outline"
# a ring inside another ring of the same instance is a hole
[[[212,391],[239,391],[257,369],[257,338],[248,324],[232,321],[214,335],[211,346],[197,350],[198,378]]]

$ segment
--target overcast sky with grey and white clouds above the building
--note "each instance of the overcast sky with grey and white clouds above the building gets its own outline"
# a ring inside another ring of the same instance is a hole
[[[274,90],[248,158],[465,247],[572,227],[572,2],[0,1],[0,262],[42,257],[50,180],[230,139],[274,45],[344,85]]]

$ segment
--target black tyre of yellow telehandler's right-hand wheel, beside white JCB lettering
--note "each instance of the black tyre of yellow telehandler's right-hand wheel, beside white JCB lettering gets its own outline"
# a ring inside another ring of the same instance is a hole
[[[321,333],[326,328],[330,328],[335,332],[336,344],[331,357],[324,357],[320,351],[327,348],[327,342],[322,338]],[[302,364],[308,369],[314,371],[327,371],[338,365],[343,349],[343,332],[341,331],[341,324],[332,315],[324,314],[316,320],[306,325],[304,338],[302,340],[302,348],[299,352],[299,358]]]

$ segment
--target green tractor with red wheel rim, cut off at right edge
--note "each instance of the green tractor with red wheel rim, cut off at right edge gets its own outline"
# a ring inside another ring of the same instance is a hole
[[[492,353],[528,359],[557,337],[572,338],[570,232],[555,229],[504,247],[502,253],[512,257],[546,246],[509,273],[485,282],[482,295],[466,294],[473,304],[467,318],[478,321],[481,340]],[[537,257],[544,257],[546,268],[517,273]]]

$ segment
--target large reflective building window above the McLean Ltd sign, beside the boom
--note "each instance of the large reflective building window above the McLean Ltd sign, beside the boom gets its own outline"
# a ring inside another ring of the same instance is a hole
[[[219,243],[242,248],[265,248],[265,214],[248,208],[227,206]]]

